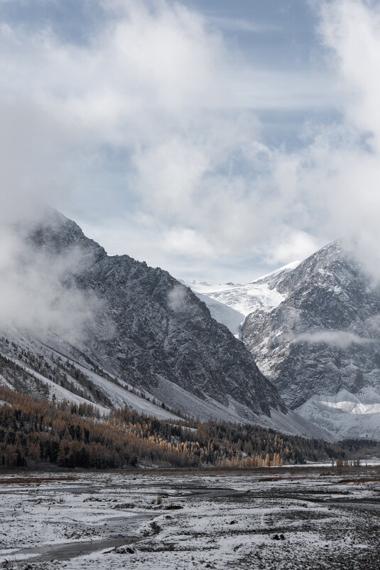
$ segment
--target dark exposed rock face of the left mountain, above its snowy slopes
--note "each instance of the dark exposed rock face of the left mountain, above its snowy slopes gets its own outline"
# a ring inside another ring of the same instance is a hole
[[[232,409],[241,406],[243,417],[247,410],[267,415],[271,407],[286,411],[244,344],[166,271],[128,255],[108,256],[57,212],[33,228],[28,242],[32,251],[52,258],[75,251],[79,263],[72,275],[63,275],[63,282],[102,301],[91,334],[72,350],[160,399],[165,386],[179,386],[183,392],[173,395],[170,405],[194,416],[197,410],[186,405],[186,393]]]

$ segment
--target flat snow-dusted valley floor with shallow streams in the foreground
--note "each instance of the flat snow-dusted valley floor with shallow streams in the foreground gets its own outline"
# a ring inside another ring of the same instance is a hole
[[[380,468],[0,473],[0,568],[378,569]]]

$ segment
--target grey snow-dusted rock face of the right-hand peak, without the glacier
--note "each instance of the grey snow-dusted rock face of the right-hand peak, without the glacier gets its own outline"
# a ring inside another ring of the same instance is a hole
[[[272,286],[285,300],[271,312],[246,317],[243,335],[288,406],[344,389],[380,391],[380,291],[339,242]]]

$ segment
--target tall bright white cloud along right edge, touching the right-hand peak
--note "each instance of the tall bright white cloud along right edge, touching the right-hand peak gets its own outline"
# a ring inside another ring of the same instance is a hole
[[[323,2],[320,37],[342,93],[342,121],[312,129],[299,182],[310,194],[313,231],[355,242],[357,259],[380,279],[380,6],[364,1]]]

